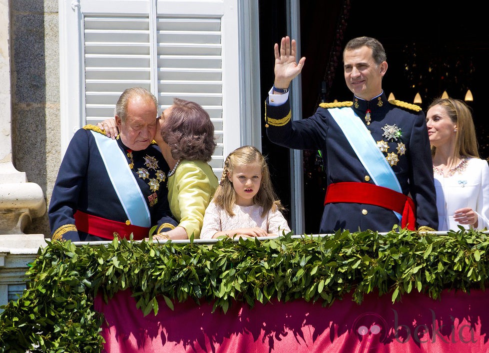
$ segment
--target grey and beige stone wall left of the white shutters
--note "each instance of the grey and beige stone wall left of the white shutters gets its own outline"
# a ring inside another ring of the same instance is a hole
[[[10,1],[12,161],[46,205],[61,162],[57,0]],[[49,236],[47,212],[24,233]]]

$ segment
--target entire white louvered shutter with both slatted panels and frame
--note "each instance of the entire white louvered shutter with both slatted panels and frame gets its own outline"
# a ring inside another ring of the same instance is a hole
[[[215,126],[217,148],[210,164],[219,176],[224,153],[239,146],[238,53],[231,45],[233,40],[228,40],[229,48],[223,50],[225,12],[237,0],[225,0],[226,4],[224,0],[80,0],[79,9],[73,2],[71,7],[79,10],[81,75],[68,82],[66,89],[79,79],[83,117],[78,125],[113,117],[117,98],[128,87],[142,86],[155,94],[159,112],[171,105],[174,97],[195,101]],[[65,7],[69,12],[69,5]],[[229,36],[237,33],[237,21],[234,13],[227,17],[229,28],[234,27],[228,30]],[[76,60],[76,53],[72,59]],[[67,71],[72,71],[76,65],[70,68],[69,60],[68,55]],[[223,121],[226,60],[229,85],[235,84],[227,97],[229,133]],[[79,127],[76,125],[72,130]],[[234,141],[227,150],[223,148],[226,134]]]

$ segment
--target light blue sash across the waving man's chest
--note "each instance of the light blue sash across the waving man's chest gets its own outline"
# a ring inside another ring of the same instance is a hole
[[[349,107],[331,108],[328,111],[340,126],[340,129],[345,134],[360,162],[367,169],[375,185],[402,193],[401,185],[391,165],[379,147],[377,147],[377,143],[372,137],[372,134],[360,117],[355,114],[355,111]],[[401,220],[402,215],[397,212],[394,213]]]

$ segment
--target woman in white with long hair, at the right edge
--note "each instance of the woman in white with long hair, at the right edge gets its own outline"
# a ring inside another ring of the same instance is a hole
[[[489,166],[479,158],[471,109],[436,99],[426,114],[437,191],[439,231],[489,227]]]

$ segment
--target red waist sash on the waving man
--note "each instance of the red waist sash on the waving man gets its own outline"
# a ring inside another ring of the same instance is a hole
[[[375,205],[400,213],[401,227],[416,230],[415,205],[404,194],[383,186],[369,183],[334,183],[326,189],[324,204],[348,202]]]

